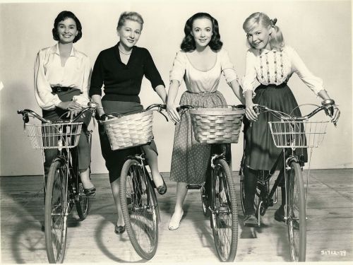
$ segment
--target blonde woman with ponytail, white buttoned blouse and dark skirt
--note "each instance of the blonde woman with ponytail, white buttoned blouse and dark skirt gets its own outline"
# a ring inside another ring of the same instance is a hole
[[[301,81],[319,97],[324,100],[330,98],[321,78],[313,76],[292,47],[285,46],[276,22],[276,19],[270,20],[264,13],[253,13],[243,24],[251,47],[246,53],[246,72],[242,81],[246,117],[251,122],[246,129],[244,152],[245,225],[258,223],[253,208],[258,170],[270,170],[281,152],[280,148],[275,147],[268,127],[268,122],[277,119],[269,112],[258,116],[253,106],[265,105],[273,110],[301,116],[299,108],[294,110],[298,106],[297,101],[287,86],[292,73],[297,73]],[[339,116],[340,111],[335,107],[333,122],[337,122]],[[297,148],[296,153],[303,155],[306,162],[306,149]],[[282,187],[282,205],[275,212],[276,220],[284,221],[284,204],[285,188]]]

